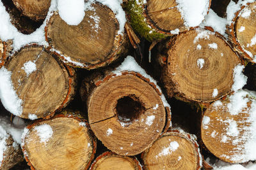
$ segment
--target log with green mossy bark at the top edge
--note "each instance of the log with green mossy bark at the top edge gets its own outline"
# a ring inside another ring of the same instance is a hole
[[[210,5],[211,1],[205,6],[206,11]],[[189,30],[175,0],[132,0],[124,7],[134,30],[148,41],[159,41]]]

